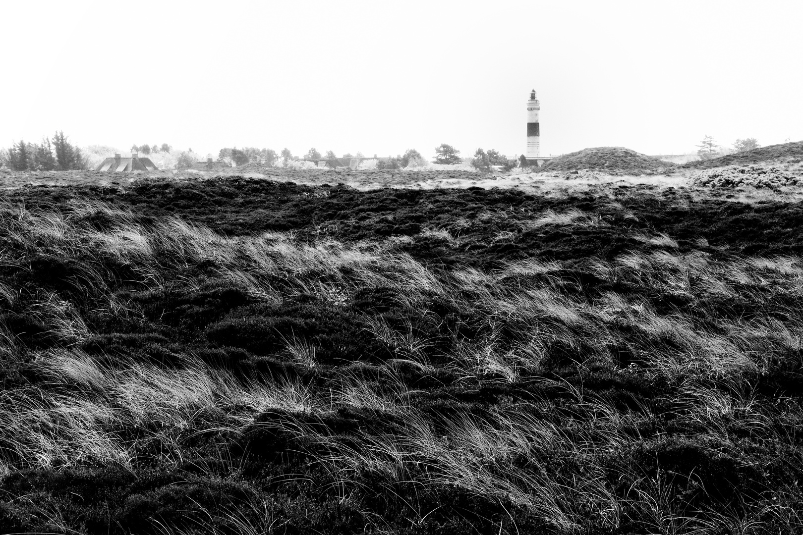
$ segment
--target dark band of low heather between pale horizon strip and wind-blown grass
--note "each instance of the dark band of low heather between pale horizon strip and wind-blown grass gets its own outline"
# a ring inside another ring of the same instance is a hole
[[[638,245],[634,232],[670,235],[684,253],[803,255],[798,201],[736,202],[728,195],[618,185],[549,197],[498,188],[361,192],[342,184],[312,187],[234,177],[141,181],[126,189],[20,188],[6,192],[6,199],[42,209],[94,199],[133,209],[145,222],[179,216],[232,237],[267,231],[292,232],[305,243],[392,239],[398,251],[430,267],[489,270],[532,256],[610,259]],[[548,213],[564,214],[574,224],[532,224]],[[699,245],[701,238],[710,245]]]

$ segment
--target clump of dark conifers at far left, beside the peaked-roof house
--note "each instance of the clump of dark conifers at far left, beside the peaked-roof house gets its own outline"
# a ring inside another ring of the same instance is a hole
[[[71,144],[64,132],[38,144],[20,140],[0,151],[0,163],[13,171],[73,171],[88,168],[88,158]]]

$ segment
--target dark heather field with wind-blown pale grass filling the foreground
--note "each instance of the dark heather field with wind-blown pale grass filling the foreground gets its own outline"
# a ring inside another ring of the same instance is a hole
[[[803,187],[700,173],[0,176],[0,533],[803,533]]]

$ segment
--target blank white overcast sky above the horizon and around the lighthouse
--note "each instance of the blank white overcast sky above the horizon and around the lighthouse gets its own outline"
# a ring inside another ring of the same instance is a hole
[[[0,147],[803,140],[803,2],[0,2]]]

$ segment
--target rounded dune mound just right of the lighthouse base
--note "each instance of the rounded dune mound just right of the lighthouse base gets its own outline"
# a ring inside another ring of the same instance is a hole
[[[600,171],[610,175],[654,175],[675,168],[675,164],[656,160],[624,147],[584,148],[549,160],[540,172]]]

